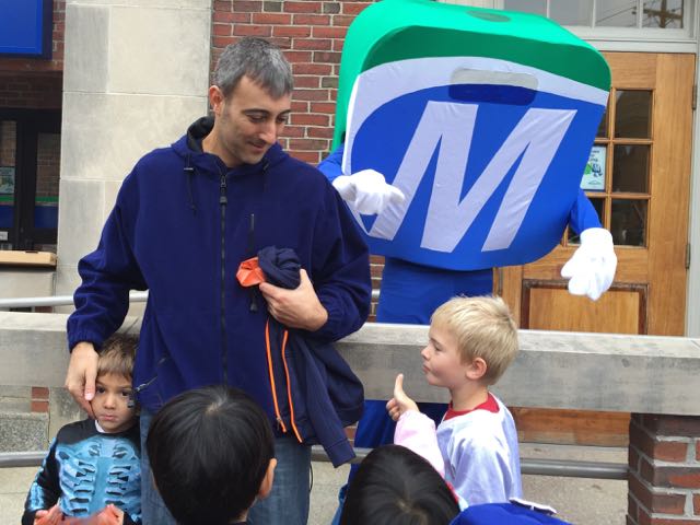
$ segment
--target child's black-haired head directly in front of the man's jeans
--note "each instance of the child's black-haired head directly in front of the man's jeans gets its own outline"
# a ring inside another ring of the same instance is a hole
[[[275,442],[267,416],[250,397],[210,386],[165,404],[153,417],[147,451],[177,523],[224,525],[255,502]]]

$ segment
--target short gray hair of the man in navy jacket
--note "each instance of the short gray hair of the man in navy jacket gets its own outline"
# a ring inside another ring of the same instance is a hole
[[[282,50],[257,37],[245,37],[225,47],[217,69],[214,84],[229,97],[243,77],[259,84],[273,98],[288,95],[294,89],[292,67]]]

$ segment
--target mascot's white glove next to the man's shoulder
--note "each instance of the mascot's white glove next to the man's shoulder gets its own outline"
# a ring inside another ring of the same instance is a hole
[[[387,184],[384,175],[374,170],[340,175],[332,185],[340,197],[363,215],[376,215],[382,213],[389,202],[400,205],[406,199],[400,189]]]

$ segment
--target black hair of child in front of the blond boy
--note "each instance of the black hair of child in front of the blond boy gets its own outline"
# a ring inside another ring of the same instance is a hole
[[[375,448],[350,482],[340,525],[447,525],[455,495],[430,463],[400,445]]]

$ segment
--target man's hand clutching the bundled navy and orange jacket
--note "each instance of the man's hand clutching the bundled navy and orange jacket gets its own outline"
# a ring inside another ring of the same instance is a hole
[[[270,315],[281,324],[289,328],[316,331],[328,320],[328,312],[318,301],[306,270],[302,268],[300,276],[302,282],[294,290],[261,282],[260,293],[267,301]]]

